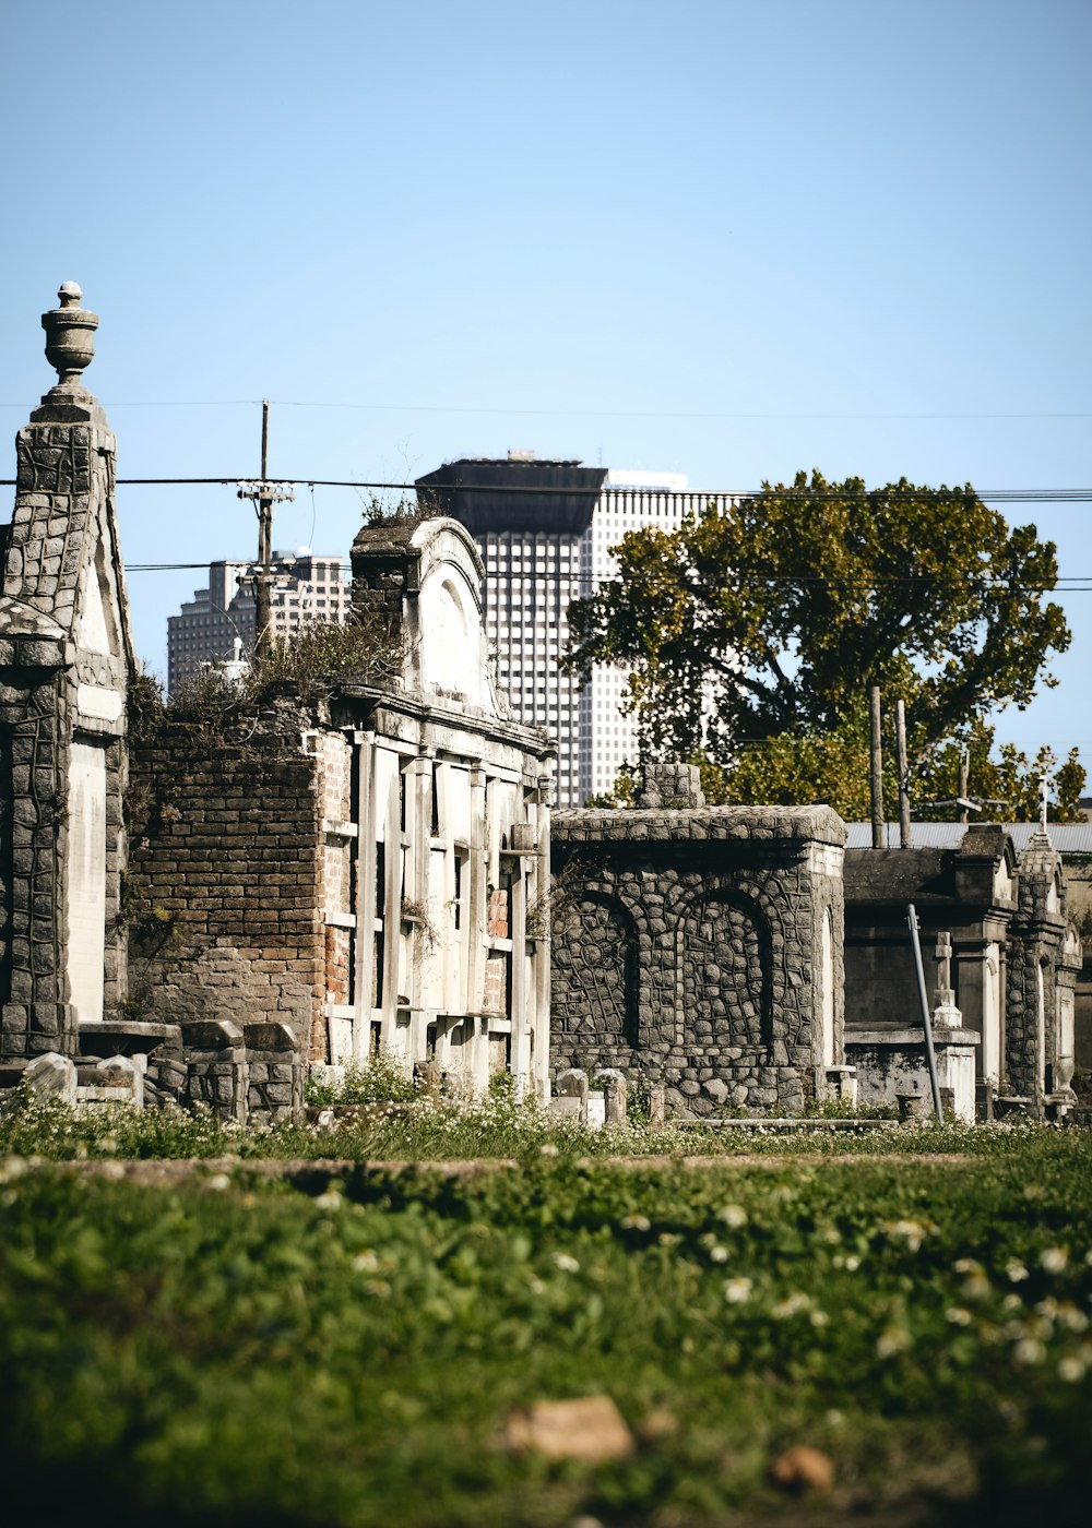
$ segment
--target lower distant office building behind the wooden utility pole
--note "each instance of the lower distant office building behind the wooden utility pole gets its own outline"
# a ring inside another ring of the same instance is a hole
[[[275,636],[284,636],[307,620],[343,623],[350,605],[344,559],[318,555],[310,547],[274,552],[275,582],[271,617]],[[210,562],[208,588],[194,590],[182,613],[167,617],[167,688],[176,694],[196,678],[205,663],[220,663],[254,646],[254,562]]]

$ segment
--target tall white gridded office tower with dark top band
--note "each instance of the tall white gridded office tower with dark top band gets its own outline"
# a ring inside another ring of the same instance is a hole
[[[477,542],[497,677],[518,720],[557,738],[557,804],[609,792],[622,762],[636,764],[636,727],[619,709],[626,672],[596,665],[583,688],[560,672],[569,602],[613,575],[627,530],[671,530],[707,497],[690,494],[682,474],[607,472],[532,452],[451,461],[416,486]]]

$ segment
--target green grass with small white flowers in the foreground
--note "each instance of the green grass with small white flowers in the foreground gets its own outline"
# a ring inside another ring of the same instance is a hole
[[[34,1485],[17,1520],[1086,1520],[1087,1134],[985,1131],[954,1163],[774,1140],[783,1160],[702,1169],[528,1137],[518,1167],[465,1177],[376,1172],[358,1143],[310,1192],[245,1157],[171,1189],[9,1158],[0,1458],[8,1499]],[[596,1394],[632,1458],[505,1445],[514,1409]],[[832,1496],[771,1484],[798,1442],[834,1461]]]

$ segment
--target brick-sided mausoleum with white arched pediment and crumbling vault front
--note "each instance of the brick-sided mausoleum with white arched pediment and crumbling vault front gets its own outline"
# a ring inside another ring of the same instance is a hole
[[[367,526],[352,567],[388,674],[133,747],[151,802],[133,872],[174,927],[148,952],[150,1013],[206,1021],[210,1047],[214,1019],[223,1051],[263,1015],[310,1065],[382,1050],[546,1093],[551,746],[497,694],[462,526]]]

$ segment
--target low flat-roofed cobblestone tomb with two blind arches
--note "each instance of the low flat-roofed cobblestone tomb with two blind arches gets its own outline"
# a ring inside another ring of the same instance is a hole
[[[841,1057],[844,840],[827,807],[555,813],[555,1073],[616,1068],[694,1115],[800,1111],[824,983]]]

